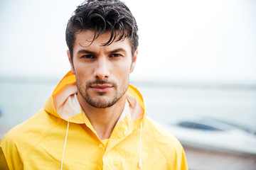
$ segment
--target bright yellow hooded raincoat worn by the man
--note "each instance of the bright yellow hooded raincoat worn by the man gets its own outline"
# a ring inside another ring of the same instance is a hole
[[[131,118],[124,117],[110,139],[101,141],[82,111],[68,118],[65,112],[70,110],[56,108],[55,99],[66,93],[65,87],[70,84],[75,86],[75,75],[71,72],[60,81],[41,111],[4,136],[0,142],[0,169],[60,169],[68,122],[63,169],[140,169],[141,122],[142,169],[188,169],[183,147],[146,115],[142,95],[134,86],[127,89]],[[74,99],[75,94],[72,95]],[[70,106],[67,101],[61,104]],[[73,105],[78,107],[79,103]]]

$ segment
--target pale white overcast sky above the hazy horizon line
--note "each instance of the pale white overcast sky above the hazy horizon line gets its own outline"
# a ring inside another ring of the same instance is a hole
[[[82,1],[1,0],[0,76],[63,77]],[[256,83],[256,1],[127,0],[139,26],[132,79]]]

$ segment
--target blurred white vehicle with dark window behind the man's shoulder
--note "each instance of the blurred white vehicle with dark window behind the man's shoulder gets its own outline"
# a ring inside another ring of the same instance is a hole
[[[256,135],[210,118],[179,118],[162,123],[182,145],[256,154]]]

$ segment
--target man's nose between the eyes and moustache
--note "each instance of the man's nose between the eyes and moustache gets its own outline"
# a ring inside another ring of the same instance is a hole
[[[99,58],[95,64],[94,77],[100,80],[105,80],[110,77],[110,70],[107,65],[107,60]]]

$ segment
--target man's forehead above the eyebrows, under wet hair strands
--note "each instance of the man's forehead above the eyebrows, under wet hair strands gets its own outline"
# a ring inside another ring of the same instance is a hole
[[[75,42],[73,46],[74,52],[76,49],[93,48],[93,47],[97,47],[97,48],[122,47],[124,48],[124,50],[132,51],[130,38],[124,38],[122,40],[117,41],[119,39],[119,36],[117,36],[114,42],[112,42],[110,45],[104,45],[106,42],[110,40],[110,37],[111,37],[110,32],[102,33],[95,40],[93,40],[94,37],[95,37],[95,31],[92,31],[92,30],[82,30],[81,32],[76,33]]]

